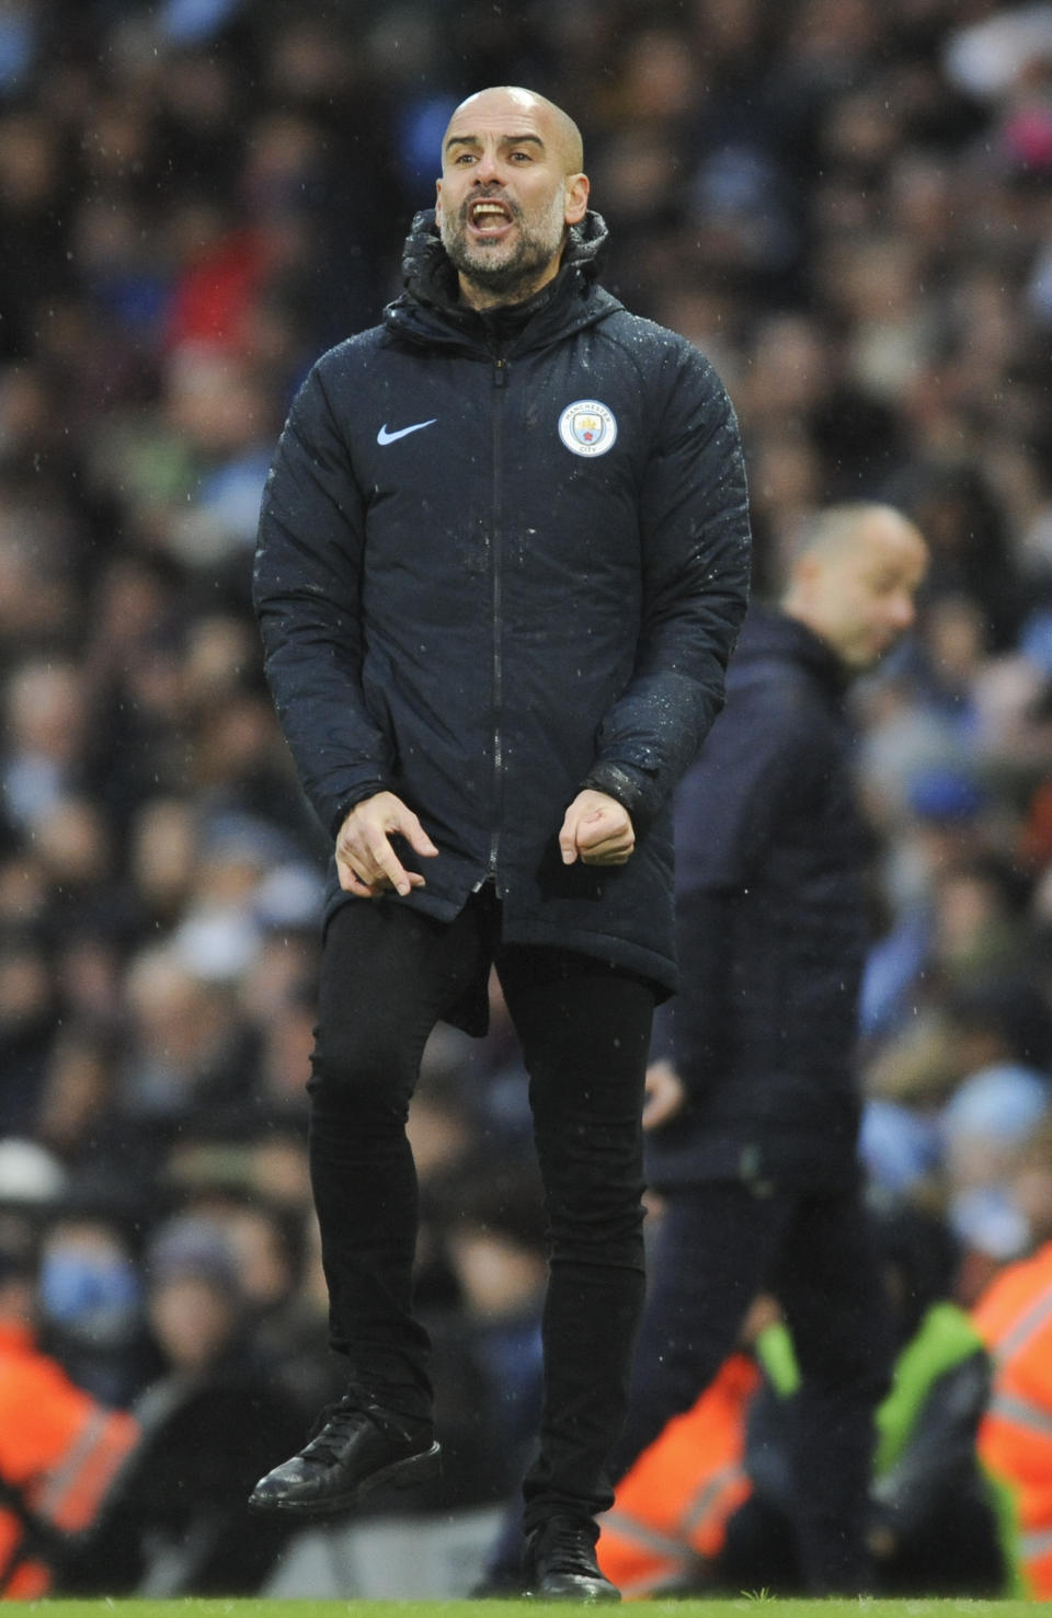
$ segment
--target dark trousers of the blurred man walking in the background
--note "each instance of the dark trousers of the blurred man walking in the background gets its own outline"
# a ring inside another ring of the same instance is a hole
[[[756,1194],[711,1181],[670,1194],[651,1254],[630,1414],[615,1479],[689,1409],[733,1351],[749,1304],[782,1304],[801,1372],[790,1450],[800,1563],[808,1587],[871,1587],[864,1548],[872,1414],[889,1385],[889,1306],[856,1189]]]

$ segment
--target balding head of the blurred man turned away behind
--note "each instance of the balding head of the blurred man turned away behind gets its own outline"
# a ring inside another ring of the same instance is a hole
[[[830,506],[788,570],[782,608],[855,673],[871,668],[911,628],[927,545],[893,506]]]

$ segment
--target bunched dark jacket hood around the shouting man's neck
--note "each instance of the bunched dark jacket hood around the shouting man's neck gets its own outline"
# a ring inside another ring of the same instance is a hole
[[[588,307],[588,319],[597,312],[620,307],[617,299],[596,285],[607,244],[607,227],[599,214],[586,214],[579,225],[571,225],[558,275],[523,304],[479,314],[460,303],[456,270],[442,246],[434,209],[424,209],[413,220],[401,256],[401,280],[405,291],[384,311],[388,327],[400,332],[426,335],[429,314],[437,312],[442,325],[452,325],[464,337],[511,335],[521,332],[534,314],[558,311],[558,324],[566,319],[573,304],[578,316]],[[591,294],[591,296],[589,296]],[[602,309],[596,299],[602,299]],[[502,330],[507,327],[507,333]],[[431,335],[437,335],[434,328]]]

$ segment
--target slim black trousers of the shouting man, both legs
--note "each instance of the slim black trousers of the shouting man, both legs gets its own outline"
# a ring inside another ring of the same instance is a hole
[[[652,989],[575,951],[503,947],[500,906],[486,892],[448,924],[397,903],[343,904],[322,953],[311,1178],[330,1338],[350,1359],[351,1385],[427,1419],[405,1125],[427,1036],[490,961],[529,1073],[550,1241],[529,1529],[552,1511],[591,1516],[612,1502],[607,1461],[644,1293],[639,1116]]]

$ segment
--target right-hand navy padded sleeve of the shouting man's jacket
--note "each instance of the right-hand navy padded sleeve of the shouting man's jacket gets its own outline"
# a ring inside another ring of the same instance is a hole
[[[639,827],[668,801],[723,705],[723,675],[749,591],[744,460],[733,406],[683,343],[644,474],[643,621],[633,678],[607,714],[586,778]]]

